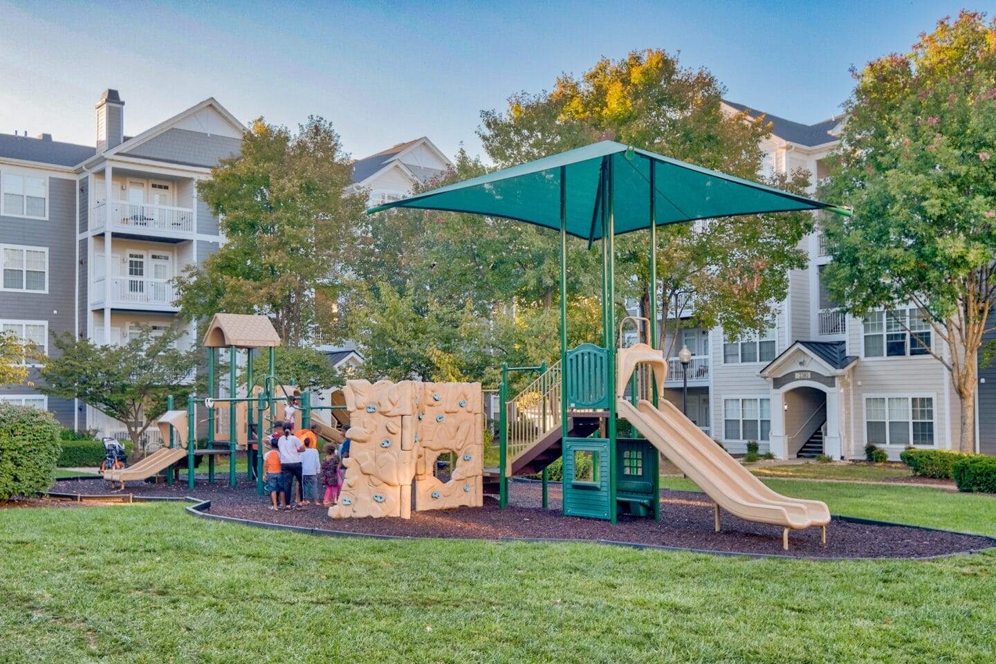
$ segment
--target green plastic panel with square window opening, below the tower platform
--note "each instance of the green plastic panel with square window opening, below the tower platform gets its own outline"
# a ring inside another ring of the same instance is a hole
[[[594,468],[577,467],[577,460],[594,459]],[[564,514],[609,519],[609,439],[564,439]]]

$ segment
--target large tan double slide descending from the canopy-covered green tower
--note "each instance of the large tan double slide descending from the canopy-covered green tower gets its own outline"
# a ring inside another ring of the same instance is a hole
[[[721,508],[745,521],[783,527],[786,550],[789,529],[819,526],[826,542],[826,526],[830,523],[826,503],[788,498],[772,491],[670,401],[661,400],[659,410],[646,400],[640,400],[638,407],[622,398],[617,403],[620,416],[716,503],[716,530]]]

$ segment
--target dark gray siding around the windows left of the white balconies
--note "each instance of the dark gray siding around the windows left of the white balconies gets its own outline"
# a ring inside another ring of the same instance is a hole
[[[74,232],[77,227],[76,185],[75,179],[55,175],[49,178],[47,221],[0,216],[0,243],[47,247],[49,250],[48,294],[0,291],[0,318],[47,321],[50,349],[53,348],[52,334],[73,332],[76,309],[72,285],[77,265]],[[38,376],[32,375],[31,379],[37,382]],[[0,386],[0,393],[31,394],[34,391],[25,385]],[[72,402],[50,398],[49,409],[63,424],[72,424]]]

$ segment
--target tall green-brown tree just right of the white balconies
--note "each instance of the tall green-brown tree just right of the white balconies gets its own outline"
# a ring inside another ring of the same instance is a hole
[[[349,156],[331,123],[310,117],[292,134],[255,120],[241,153],[198,183],[225,243],[177,279],[182,315],[262,314],[288,346],[307,340],[316,297],[335,291],[332,277],[364,210],[362,193],[347,193],[351,184]]]

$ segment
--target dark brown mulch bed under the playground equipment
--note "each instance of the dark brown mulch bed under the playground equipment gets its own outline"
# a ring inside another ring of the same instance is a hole
[[[683,491],[661,491],[661,520],[622,517],[615,526],[604,521],[561,515],[560,487],[550,486],[550,510],[542,510],[539,484],[509,485],[510,506],[499,510],[486,498],[480,509],[460,508],[445,512],[413,512],[411,519],[338,519],[328,510],[310,507],[294,512],[267,509],[269,497],[256,495],[255,483],[198,483],[193,491],[185,484],[135,483],[127,492],[137,496],[185,497],[211,501],[210,514],[237,519],[340,531],[362,535],[407,538],[554,539],[612,541],[695,549],[723,553],[762,553],[800,557],[925,557],[988,549],[992,540],[983,537],[929,531],[912,527],[880,526],[833,521],[827,527],[827,546],[820,545],[820,529],[793,531],[789,551],[782,549],[782,529],[754,524],[723,514],[720,533],[713,531],[713,504],[704,495]],[[67,480],[53,491],[81,494],[106,493],[103,481]]]

